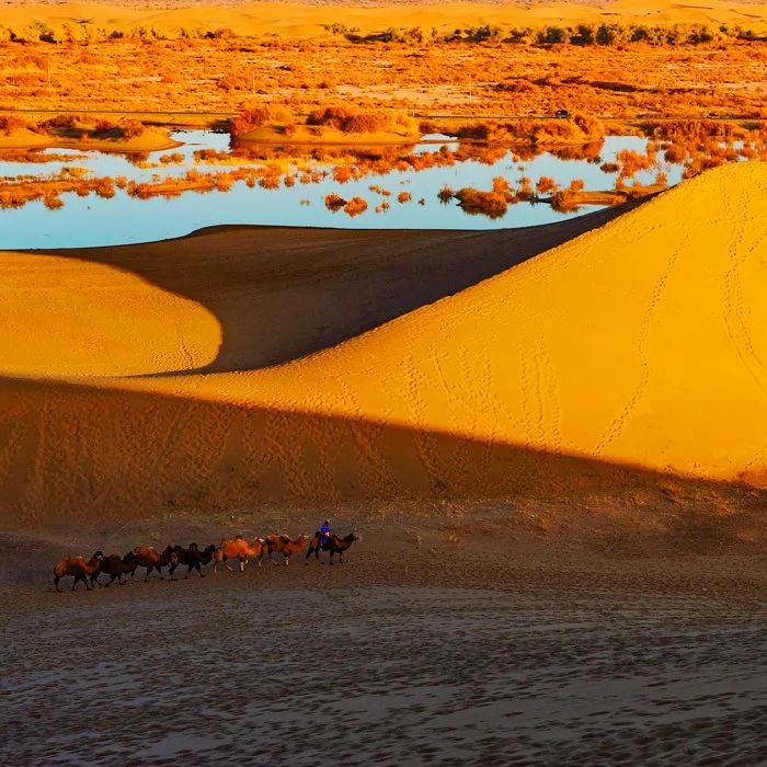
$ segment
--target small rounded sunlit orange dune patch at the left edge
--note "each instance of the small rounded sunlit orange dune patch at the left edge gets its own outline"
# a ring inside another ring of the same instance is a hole
[[[111,266],[3,253],[0,371],[125,376],[203,367],[218,320],[199,304]]]

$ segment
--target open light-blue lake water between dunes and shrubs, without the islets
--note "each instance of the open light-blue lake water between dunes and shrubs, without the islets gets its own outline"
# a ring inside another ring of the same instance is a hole
[[[181,165],[141,169],[119,154],[50,150],[57,154],[70,153],[72,160],[44,164],[0,162],[0,176],[49,174],[69,165],[87,168],[94,176],[124,175],[128,181],[148,182],[169,175],[183,176],[192,168],[201,172],[231,170],[227,165],[193,162],[196,149],[227,150],[227,134],[190,130],[175,131],[173,137],[184,142],[182,147],[170,150],[184,154],[185,161]],[[437,151],[444,137],[427,138],[432,140],[419,145],[416,153]],[[456,148],[450,140],[445,140],[444,144],[451,149]],[[600,161],[613,161],[620,149],[644,152],[646,144],[648,139],[640,137],[607,137],[600,151]],[[149,161],[157,162],[163,153],[167,152],[151,153]],[[659,169],[667,173],[669,184],[682,179],[680,165],[665,163],[660,163],[652,171],[640,172],[634,179],[643,184],[652,183]],[[331,170],[330,165],[328,170]],[[515,163],[513,152],[510,151],[492,164],[468,160],[448,168],[391,171],[385,175],[368,174],[359,181],[345,184],[340,184],[332,176],[317,184],[296,183],[293,187],[283,185],[277,190],[257,185],[251,188],[244,182],[238,182],[228,192],[185,192],[171,199],[138,199],[122,190],[116,190],[112,199],[103,199],[94,194],[79,197],[71,193],[61,195],[64,207],[57,210],[49,210],[42,201],[28,203],[19,209],[0,210],[0,248],[76,248],[147,242],[180,237],[202,227],[222,224],[355,229],[496,229],[549,224],[597,209],[595,206],[584,206],[574,214],[560,214],[549,205],[522,203],[511,205],[505,216],[490,219],[468,215],[455,202],[444,205],[437,198],[437,192],[444,185],[454,190],[462,186],[489,190],[492,179],[499,175],[505,176],[512,184],[523,175],[534,182],[547,175],[553,178],[560,186],[566,186],[574,179],[583,179],[586,190],[613,188],[616,176],[604,173],[599,163],[561,160],[549,153]],[[388,197],[389,210],[375,213],[375,206],[384,197],[369,191],[371,184],[391,190],[392,194]],[[397,195],[402,191],[412,195],[412,202],[397,202]],[[331,213],[324,205],[324,197],[330,193],[340,194],[346,199],[355,195],[362,196],[369,207],[354,218],[343,210]],[[424,199],[423,205],[417,204],[420,198]]]

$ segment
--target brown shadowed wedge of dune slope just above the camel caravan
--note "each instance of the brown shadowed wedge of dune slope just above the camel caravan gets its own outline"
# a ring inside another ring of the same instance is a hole
[[[5,529],[262,502],[572,501],[668,479],[439,432],[91,385],[5,378],[0,401]]]

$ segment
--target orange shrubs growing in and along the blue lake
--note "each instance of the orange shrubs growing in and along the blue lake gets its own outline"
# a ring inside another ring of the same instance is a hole
[[[357,113],[333,111],[328,119],[343,124]],[[291,119],[291,114],[282,108],[268,111],[268,116],[279,115]],[[345,116],[344,116],[345,115]],[[325,115],[322,115],[325,118]],[[318,117],[316,117],[318,119]],[[82,128],[81,118],[60,115],[45,122],[23,121],[23,129],[34,135],[73,131]],[[239,123],[238,123],[239,121]],[[259,121],[259,115],[243,112],[232,124],[247,130]],[[21,123],[13,115],[0,117],[0,125],[18,130]],[[103,135],[115,130],[114,124],[91,121],[90,129]],[[379,180],[392,171],[425,171],[434,168],[450,168],[467,161],[493,164],[511,159],[520,170],[525,162],[541,152],[566,160],[585,160],[598,164],[605,173],[605,184],[597,188],[585,188],[581,180],[568,183],[562,188],[549,176],[529,179],[524,173],[517,178],[497,176],[492,188],[463,186],[456,190],[443,186],[436,191],[437,199],[444,204],[457,203],[470,215],[501,218],[510,205],[518,203],[547,204],[562,213],[576,211],[583,205],[615,205],[627,199],[654,194],[668,184],[668,168],[682,165],[683,178],[690,178],[703,170],[728,162],[767,159],[767,128],[759,123],[721,121],[648,121],[642,125],[627,127],[646,138],[644,151],[621,149],[615,157],[603,161],[602,149],[607,126],[593,117],[574,115],[562,121],[470,121],[448,127],[435,122],[422,123],[421,131],[440,131],[456,137],[453,146],[443,145],[435,151],[419,152],[415,145],[360,146],[354,145],[289,145],[285,142],[240,141],[232,135],[228,150],[197,149],[188,161],[183,152],[171,151],[152,159],[149,152],[125,154],[138,169],[157,169],[181,165],[181,172],[163,175],[158,172],[150,178],[99,178],[85,169],[68,164],[56,173],[25,173],[0,180],[0,207],[21,207],[27,202],[42,199],[50,209],[64,204],[61,195],[75,193],[79,196],[96,194],[110,198],[122,191],[138,198],[172,198],[187,192],[227,192],[237,183],[250,187],[276,190],[297,184],[319,184],[332,179],[340,187],[365,178]],[[135,131],[141,135],[141,129]],[[233,128],[233,133],[237,128]],[[587,139],[586,144],[580,141]],[[570,141],[574,141],[570,144]],[[48,161],[76,162],[78,157],[43,152],[33,149],[1,149],[0,161],[43,164]],[[192,168],[183,168],[185,163]],[[201,168],[199,165],[205,165]],[[216,168],[219,167],[219,168]],[[146,176],[146,174],[145,174]],[[642,181],[638,181],[638,178]],[[648,181],[648,176],[652,181]],[[350,217],[373,207],[377,214],[390,209],[392,192],[380,183],[368,185],[368,191],[378,199],[364,196],[343,195],[341,191],[327,194],[324,203],[329,210],[343,210]],[[399,204],[412,202],[409,192],[393,195]],[[425,199],[419,199],[424,205]]]

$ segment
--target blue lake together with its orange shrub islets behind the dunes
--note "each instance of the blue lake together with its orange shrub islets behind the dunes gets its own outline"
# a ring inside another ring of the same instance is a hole
[[[46,207],[50,201],[43,197],[0,211],[0,248],[121,244],[228,224],[365,229],[535,226],[603,206],[558,213],[536,204],[535,186],[541,178],[559,188],[581,180],[585,190],[611,190],[618,153],[648,150],[648,139],[636,136],[609,136],[585,147],[541,153],[530,147],[458,142],[442,135],[425,136],[405,148],[313,146],[298,152],[291,146],[232,147],[228,134],[208,130],[179,130],[173,138],[183,146],[144,156],[50,149],[43,152],[50,156],[44,164],[0,160],[0,176],[7,180],[45,176],[58,183],[75,173],[91,182],[84,196],[62,185],[60,209]],[[651,185],[659,170],[669,184],[682,179],[683,167],[662,157],[631,179]],[[492,191],[499,176],[515,195],[527,180],[534,194],[494,208],[493,217],[466,215],[478,210],[461,209],[460,201],[445,194],[463,187]],[[114,180],[111,188],[96,184],[104,179]],[[344,205],[328,205],[332,195]],[[352,201],[356,202],[350,207]]]

